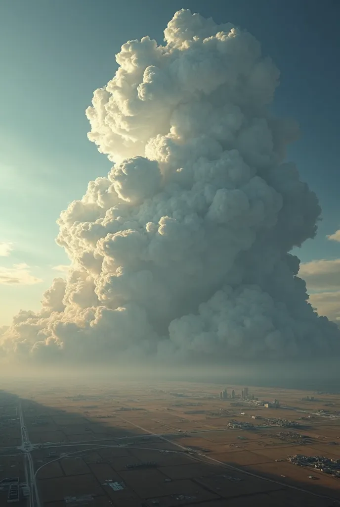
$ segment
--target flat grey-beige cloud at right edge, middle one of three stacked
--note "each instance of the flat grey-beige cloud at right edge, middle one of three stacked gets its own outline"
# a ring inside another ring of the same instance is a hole
[[[340,289],[340,259],[311,261],[300,266],[299,276],[310,290]]]

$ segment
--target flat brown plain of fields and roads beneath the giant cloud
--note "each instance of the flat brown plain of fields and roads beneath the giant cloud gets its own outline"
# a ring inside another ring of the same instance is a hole
[[[35,481],[20,506],[340,505],[340,478],[287,460],[340,460],[340,394],[247,387],[3,380],[0,480]]]

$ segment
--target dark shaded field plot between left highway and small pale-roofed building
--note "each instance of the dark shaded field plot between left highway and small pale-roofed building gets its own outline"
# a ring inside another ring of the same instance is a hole
[[[91,474],[40,480],[38,488],[44,502],[62,500],[70,495],[103,495],[102,488]]]

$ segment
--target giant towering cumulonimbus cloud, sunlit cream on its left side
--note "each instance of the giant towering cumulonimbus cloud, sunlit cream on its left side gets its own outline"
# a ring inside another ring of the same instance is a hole
[[[289,251],[317,197],[284,163],[299,129],[270,111],[279,72],[232,24],[182,10],[124,44],[89,139],[114,163],[58,220],[73,268],[21,311],[3,354],[69,360],[296,357],[338,350]]]

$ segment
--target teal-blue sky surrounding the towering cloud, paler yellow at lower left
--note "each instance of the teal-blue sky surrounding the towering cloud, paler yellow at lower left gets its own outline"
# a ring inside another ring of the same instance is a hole
[[[0,243],[11,243],[13,250],[0,257],[0,275],[1,269],[12,270],[27,284],[0,284],[0,325],[20,308],[38,309],[41,294],[58,275],[53,267],[67,263],[55,244],[60,211],[110,168],[87,139],[84,111],[93,91],[112,78],[121,44],[144,35],[161,43],[162,30],[181,8],[248,29],[275,61],[281,71],[275,109],[296,118],[302,129],[289,159],[323,208],[317,238],[297,255],[304,262],[340,257],[340,244],[326,239],[340,228],[336,0],[326,0],[322,8],[319,0],[5,0]]]

